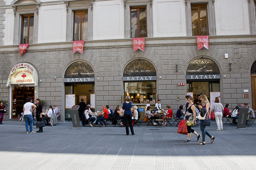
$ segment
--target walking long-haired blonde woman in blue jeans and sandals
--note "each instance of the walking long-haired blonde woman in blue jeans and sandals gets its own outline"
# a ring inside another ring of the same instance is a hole
[[[202,105],[199,105],[198,107],[200,108],[200,110],[202,108],[206,108],[207,113],[209,113],[210,111],[210,103],[207,99],[207,96],[205,96],[204,94],[202,94],[201,96],[201,101],[202,101]],[[207,120],[210,119],[210,114],[207,115]],[[209,136],[209,138],[211,139],[211,143],[213,142],[213,140],[215,139],[214,136],[212,136],[207,130],[205,130],[206,125],[204,124],[204,120],[200,120],[200,129],[202,132],[202,142],[200,142],[198,145],[204,145],[205,144],[205,135]]]

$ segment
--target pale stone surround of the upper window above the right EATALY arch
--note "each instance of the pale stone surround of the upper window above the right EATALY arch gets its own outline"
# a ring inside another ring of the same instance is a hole
[[[187,36],[192,36],[191,5],[194,4],[207,5],[208,35],[216,35],[214,0],[186,0]]]

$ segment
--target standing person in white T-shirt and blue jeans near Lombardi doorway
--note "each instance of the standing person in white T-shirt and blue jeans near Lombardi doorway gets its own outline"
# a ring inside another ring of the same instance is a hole
[[[32,98],[28,97],[26,103],[23,106],[23,116],[25,118],[26,133],[35,133],[33,131],[33,116],[32,111],[35,110],[36,106],[32,103]]]

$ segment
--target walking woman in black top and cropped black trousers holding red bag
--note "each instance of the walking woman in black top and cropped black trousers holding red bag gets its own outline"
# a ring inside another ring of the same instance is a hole
[[[186,139],[186,141],[184,141],[185,143],[191,142],[191,140],[190,140],[191,132],[196,135],[197,141],[200,139],[200,136],[201,136],[201,135],[198,135],[198,133],[196,133],[196,131],[194,129],[192,129],[192,125],[194,125],[193,122],[195,122],[195,125],[197,125],[197,121],[195,120],[195,106],[193,105],[193,97],[188,96],[187,101],[189,102],[189,105],[188,105],[188,109],[187,109],[185,118],[187,120],[186,125],[187,125],[187,130],[188,130],[188,139]]]

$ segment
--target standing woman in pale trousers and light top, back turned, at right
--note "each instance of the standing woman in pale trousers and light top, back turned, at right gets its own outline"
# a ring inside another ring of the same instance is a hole
[[[212,112],[214,112],[215,120],[217,123],[218,129],[216,130],[223,130],[222,125],[222,111],[224,110],[223,105],[220,103],[220,99],[215,97],[215,102],[212,105]]]

